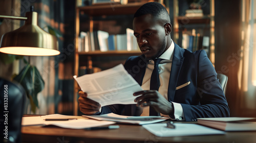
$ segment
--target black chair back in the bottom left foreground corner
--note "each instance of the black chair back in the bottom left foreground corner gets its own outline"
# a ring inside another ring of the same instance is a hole
[[[25,99],[26,92],[21,85],[0,78],[0,111],[4,115],[0,117],[0,127],[4,131],[0,142],[21,142]]]

